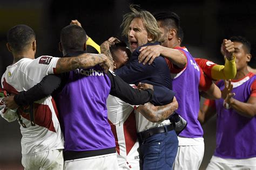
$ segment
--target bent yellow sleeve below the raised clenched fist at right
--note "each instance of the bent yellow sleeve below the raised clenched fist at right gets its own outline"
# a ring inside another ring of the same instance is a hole
[[[215,65],[212,67],[211,75],[214,80],[233,79],[237,74],[237,66],[235,66],[236,56],[233,54],[233,60],[229,61],[225,58],[225,66]]]

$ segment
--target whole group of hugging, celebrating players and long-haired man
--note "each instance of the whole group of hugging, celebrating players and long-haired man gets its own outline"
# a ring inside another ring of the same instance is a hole
[[[33,30],[9,30],[14,62],[1,80],[10,94],[1,116],[21,125],[24,168],[199,169],[200,123],[217,113],[217,146],[207,169],[255,169],[250,42],[224,39],[225,65],[217,65],[180,46],[176,13],[130,9],[122,23],[130,48],[114,37],[99,48],[72,20],[60,33],[63,57],[35,59]],[[88,45],[101,54],[87,53]],[[201,109],[200,96],[208,98]]]

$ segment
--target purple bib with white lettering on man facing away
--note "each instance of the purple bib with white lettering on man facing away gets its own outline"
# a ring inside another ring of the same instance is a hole
[[[63,125],[65,151],[115,147],[106,108],[111,83],[103,69],[99,65],[76,69],[62,74],[62,80],[55,99]]]

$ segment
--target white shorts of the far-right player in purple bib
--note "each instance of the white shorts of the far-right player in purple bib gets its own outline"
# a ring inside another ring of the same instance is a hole
[[[206,170],[256,170],[256,158],[248,159],[224,159],[212,156],[210,163],[208,164]]]

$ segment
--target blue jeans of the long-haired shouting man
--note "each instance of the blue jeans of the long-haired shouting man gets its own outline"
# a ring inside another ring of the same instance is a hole
[[[174,130],[139,141],[140,168],[147,169],[172,169],[178,151],[178,138]]]

